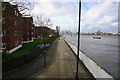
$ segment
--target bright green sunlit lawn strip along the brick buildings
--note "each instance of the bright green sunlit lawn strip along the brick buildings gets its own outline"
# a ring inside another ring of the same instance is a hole
[[[42,42],[39,38],[35,38],[33,42],[30,43],[24,43],[22,47],[15,52],[11,54],[6,54],[5,58],[10,58],[10,59],[16,59],[20,58],[25,55],[29,55],[32,51],[36,51],[39,48],[37,48],[37,44],[46,44],[46,43],[51,43],[53,38],[45,38],[44,41]]]

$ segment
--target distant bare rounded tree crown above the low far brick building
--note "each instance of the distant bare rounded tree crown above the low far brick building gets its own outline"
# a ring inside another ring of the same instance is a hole
[[[39,26],[52,26],[51,19],[49,17],[45,17],[43,15],[39,15],[35,17],[35,24]]]

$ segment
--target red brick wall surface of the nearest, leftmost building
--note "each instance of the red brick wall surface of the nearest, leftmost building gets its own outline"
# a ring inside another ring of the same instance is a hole
[[[12,5],[7,5],[2,10],[2,17],[5,19],[5,23],[2,24],[2,30],[6,32],[5,36],[2,37],[2,43],[6,43],[6,50],[11,50],[22,42],[21,16],[16,16]]]

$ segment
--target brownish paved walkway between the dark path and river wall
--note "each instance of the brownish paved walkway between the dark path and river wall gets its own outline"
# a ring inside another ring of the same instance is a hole
[[[30,78],[75,78],[75,74],[76,57],[63,38],[60,37],[52,62],[46,69],[38,71]],[[79,78],[93,79],[81,62],[79,62]]]

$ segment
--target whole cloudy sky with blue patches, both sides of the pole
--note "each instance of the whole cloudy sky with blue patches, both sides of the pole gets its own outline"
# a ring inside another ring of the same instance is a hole
[[[20,1],[20,0],[19,0]],[[50,17],[61,31],[78,31],[78,0],[30,0],[32,16]],[[81,32],[118,32],[119,0],[84,0],[81,10]]]

